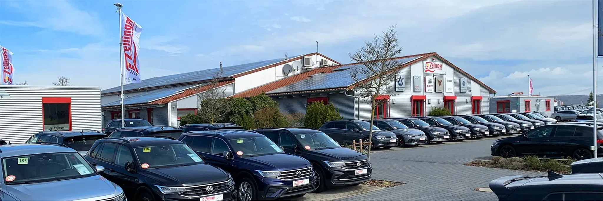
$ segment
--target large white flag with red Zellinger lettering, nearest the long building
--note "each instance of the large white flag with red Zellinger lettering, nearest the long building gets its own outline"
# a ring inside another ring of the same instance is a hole
[[[121,43],[124,48],[122,57],[124,57],[125,66],[124,83],[140,82],[140,63],[138,61],[140,45],[138,42],[142,27],[124,13],[121,14]]]

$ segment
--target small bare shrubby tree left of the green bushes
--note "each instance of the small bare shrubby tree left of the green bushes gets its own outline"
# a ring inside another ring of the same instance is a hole
[[[220,71],[213,76],[212,82],[197,88],[198,100],[201,101],[197,106],[197,115],[201,120],[212,124],[224,120],[231,109],[231,102],[226,100],[226,88],[220,88],[223,74],[220,63]]]

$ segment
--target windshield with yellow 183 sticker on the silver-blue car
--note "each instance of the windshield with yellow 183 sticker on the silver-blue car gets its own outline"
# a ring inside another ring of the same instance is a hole
[[[50,182],[96,175],[76,152],[41,153],[2,158],[7,185]]]

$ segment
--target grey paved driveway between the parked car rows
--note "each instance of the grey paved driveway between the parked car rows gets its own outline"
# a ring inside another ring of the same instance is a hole
[[[349,196],[346,197],[335,197],[327,191],[307,194],[299,200],[497,200],[494,193],[475,191],[475,188],[488,187],[488,182],[502,176],[545,175],[531,171],[463,165],[476,159],[490,159],[490,145],[494,139],[497,138],[379,149],[371,153],[373,179],[406,184],[391,188],[371,188],[370,191],[362,191],[361,187],[346,187],[333,191],[337,192],[333,194],[347,192]]]

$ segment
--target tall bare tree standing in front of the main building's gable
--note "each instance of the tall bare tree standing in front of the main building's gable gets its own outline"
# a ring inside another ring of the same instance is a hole
[[[352,68],[349,72],[355,81],[355,95],[360,100],[370,102],[371,121],[368,130],[367,142],[373,142],[373,121],[375,114],[376,98],[382,94],[388,94],[388,85],[394,83],[396,73],[394,68],[401,65],[395,57],[402,53],[402,47],[398,45],[398,34],[396,25],[391,26],[382,36],[374,36],[373,40],[364,43],[356,53],[349,54],[355,62],[362,65]],[[358,92],[358,93],[356,93]],[[367,156],[370,157],[371,146],[367,147]]]

